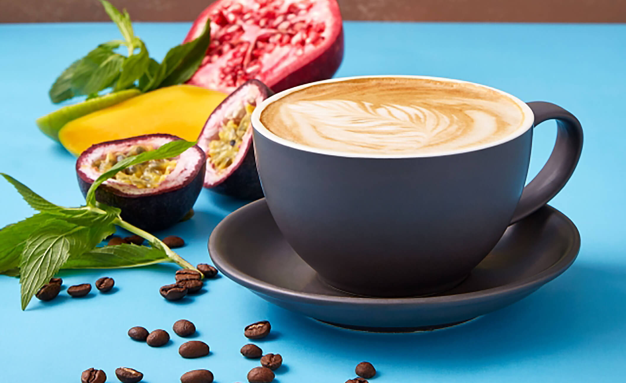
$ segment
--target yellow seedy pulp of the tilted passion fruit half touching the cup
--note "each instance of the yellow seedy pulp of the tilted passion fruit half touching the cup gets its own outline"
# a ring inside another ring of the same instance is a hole
[[[218,138],[208,144],[208,165],[216,171],[223,171],[232,165],[250,126],[255,104],[254,100],[245,102],[241,109],[227,114]]]

